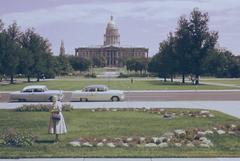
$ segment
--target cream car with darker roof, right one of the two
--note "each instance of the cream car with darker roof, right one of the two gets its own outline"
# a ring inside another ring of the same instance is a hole
[[[123,101],[123,91],[109,90],[106,85],[91,85],[72,92],[71,101]]]

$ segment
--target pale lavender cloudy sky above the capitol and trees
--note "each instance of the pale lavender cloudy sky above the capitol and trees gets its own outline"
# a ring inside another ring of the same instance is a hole
[[[208,12],[210,30],[219,32],[219,46],[240,55],[240,0],[0,0],[0,19],[21,30],[35,28],[59,54],[61,40],[68,54],[81,46],[103,45],[113,15],[121,45],[158,52],[159,43],[174,32],[180,16],[194,8]]]

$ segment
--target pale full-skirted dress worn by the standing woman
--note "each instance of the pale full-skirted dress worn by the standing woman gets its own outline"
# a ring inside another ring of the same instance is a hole
[[[50,109],[50,111],[51,110],[58,110],[59,114],[61,116],[61,119],[60,120],[53,120],[52,119],[52,113],[51,113],[49,126],[48,126],[48,133],[49,134],[64,134],[64,133],[67,133],[67,128],[66,128],[64,117],[63,117],[63,114],[62,114],[62,102],[56,101],[53,104],[53,107]]]

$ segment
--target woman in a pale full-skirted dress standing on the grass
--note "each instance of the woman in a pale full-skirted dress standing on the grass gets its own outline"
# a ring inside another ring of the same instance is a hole
[[[58,142],[59,141],[58,135],[67,133],[67,128],[62,114],[62,102],[58,100],[57,96],[54,96],[52,98],[52,102],[53,105],[49,109],[51,115],[48,126],[48,133],[56,134],[55,141]]]

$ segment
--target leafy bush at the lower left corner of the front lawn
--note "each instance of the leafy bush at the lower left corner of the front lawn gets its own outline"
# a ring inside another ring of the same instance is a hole
[[[4,129],[1,134],[2,143],[12,146],[31,146],[36,138],[31,132],[19,132],[14,128]]]

